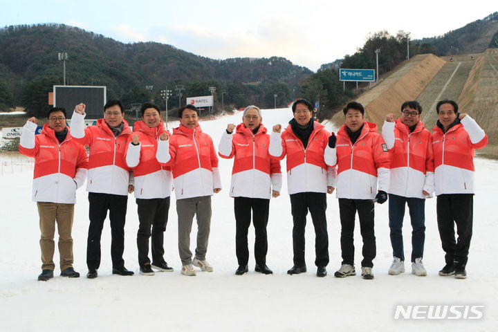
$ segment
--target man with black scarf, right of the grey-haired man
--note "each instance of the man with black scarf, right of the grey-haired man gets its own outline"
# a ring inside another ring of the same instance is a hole
[[[287,187],[291,195],[293,215],[294,266],[289,275],[306,272],[304,261],[304,230],[306,215],[311,213],[315,227],[315,265],[317,276],[326,276],[329,264],[329,234],[326,228],[326,194],[333,192],[333,169],[325,165],[324,149],[330,133],[313,120],[313,105],[308,100],[296,100],[292,106],[294,118],[281,134],[282,126],[273,126],[270,155],[287,156]]]

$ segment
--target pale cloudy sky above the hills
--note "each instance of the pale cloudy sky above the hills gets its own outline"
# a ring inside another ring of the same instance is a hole
[[[0,3],[0,26],[68,24],[124,43],[160,42],[212,59],[286,57],[312,71],[355,53],[369,33],[403,30],[412,39],[433,37],[498,10],[489,0]]]

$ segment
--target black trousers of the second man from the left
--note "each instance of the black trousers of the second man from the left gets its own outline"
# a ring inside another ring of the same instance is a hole
[[[128,196],[89,192],[89,236],[86,242],[86,266],[100,267],[100,237],[109,210],[111,221],[111,259],[113,268],[124,266],[124,221]]]

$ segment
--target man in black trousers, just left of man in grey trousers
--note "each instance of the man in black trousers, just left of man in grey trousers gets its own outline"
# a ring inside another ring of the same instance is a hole
[[[163,258],[164,232],[173,178],[171,167],[161,165],[156,158],[158,140],[169,138],[158,105],[147,102],[142,105],[140,113],[142,121],[133,125],[125,159],[127,165],[133,169],[134,192],[138,205],[137,248],[140,274],[154,275],[152,268],[163,272],[173,271]],[[149,259],[150,237],[152,264]]]

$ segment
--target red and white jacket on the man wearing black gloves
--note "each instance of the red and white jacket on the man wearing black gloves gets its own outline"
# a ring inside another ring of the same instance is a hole
[[[377,190],[389,190],[389,152],[377,125],[363,122],[363,129],[355,144],[346,130],[340,127],[335,148],[327,145],[325,162],[338,166],[335,192],[338,199],[374,199]],[[378,183],[378,188],[377,188]]]

